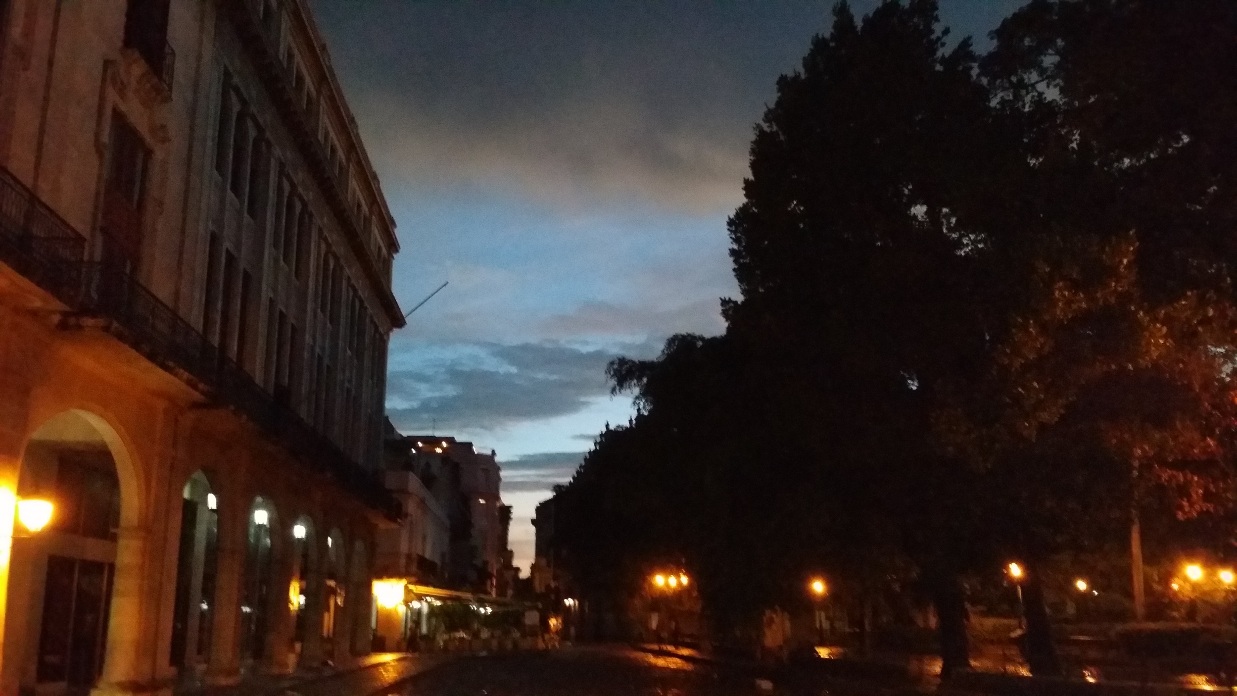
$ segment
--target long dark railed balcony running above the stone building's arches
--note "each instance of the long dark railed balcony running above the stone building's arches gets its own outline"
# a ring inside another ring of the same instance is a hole
[[[85,260],[87,241],[0,168],[0,261],[66,305],[104,320],[106,331],[210,402],[228,407],[310,467],[392,520],[400,502],[296,411],[280,404],[228,355],[137,282],[118,261]]]

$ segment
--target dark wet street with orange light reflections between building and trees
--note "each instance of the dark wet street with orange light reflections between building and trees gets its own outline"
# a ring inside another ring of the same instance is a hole
[[[778,689],[777,694],[821,694]],[[469,656],[429,670],[383,696],[727,696],[758,694],[742,668],[698,665],[621,646]]]

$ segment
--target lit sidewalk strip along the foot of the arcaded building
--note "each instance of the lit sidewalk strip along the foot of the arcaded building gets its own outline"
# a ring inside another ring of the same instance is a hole
[[[334,670],[293,672],[283,676],[261,675],[235,686],[178,689],[177,696],[374,696],[401,681],[430,670],[452,654],[379,653],[356,664]]]

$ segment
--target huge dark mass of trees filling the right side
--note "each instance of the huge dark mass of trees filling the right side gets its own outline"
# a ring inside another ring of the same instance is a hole
[[[837,5],[756,126],[726,333],[610,367],[638,414],[559,493],[576,581],[680,560],[725,625],[892,578],[949,671],[967,573],[1023,559],[1042,608],[1132,509],[1230,514],[1235,37],[1230,0],[1034,0],[980,56],[934,0]]]

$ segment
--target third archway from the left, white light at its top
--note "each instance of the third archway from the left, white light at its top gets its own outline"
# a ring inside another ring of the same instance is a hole
[[[249,665],[266,656],[266,635],[271,625],[273,571],[272,528],[278,526],[275,505],[259,495],[249,511],[245,545],[245,585],[240,602],[240,656]]]

